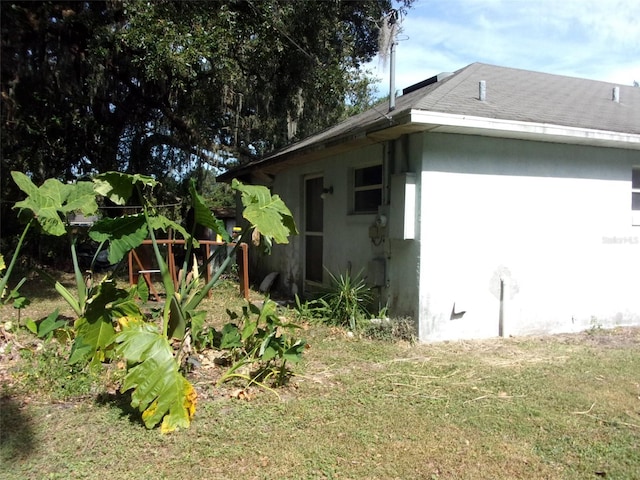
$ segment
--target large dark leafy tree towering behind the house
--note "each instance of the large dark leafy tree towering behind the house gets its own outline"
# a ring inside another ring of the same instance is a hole
[[[162,179],[278,148],[367,92],[360,67],[391,7],[2,2],[2,170],[36,182],[107,170]],[[1,187],[13,198],[6,175]]]

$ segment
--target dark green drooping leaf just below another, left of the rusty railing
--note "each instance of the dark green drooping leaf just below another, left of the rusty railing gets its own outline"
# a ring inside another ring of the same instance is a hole
[[[109,263],[115,264],[129,250],[142,245],[149,230],[144,215],[128,215],[118,218],[103,218],[94,223],[89,236],[96,242],[109,241]]]

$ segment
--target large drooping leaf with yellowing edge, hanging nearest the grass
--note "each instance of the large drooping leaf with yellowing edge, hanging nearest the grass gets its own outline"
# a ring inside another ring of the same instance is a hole
[[[179,372],[173,349],[157,326],[123,322],[116,342],[118,353],[134,364],[127,371],[121,391],[133,390],[131,406],[142,412],[147,428],[161,420],[162,433],[189,427],[195,414],[196,392]]]

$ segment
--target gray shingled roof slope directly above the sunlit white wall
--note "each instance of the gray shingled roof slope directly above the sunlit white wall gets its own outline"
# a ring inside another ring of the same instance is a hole
[[[486,82],[485,102],[478,100],[481,80]],[[408,100],[417,110],[640,134],[640,88],[620,85],[616,103],[615,86],[474,63]]]

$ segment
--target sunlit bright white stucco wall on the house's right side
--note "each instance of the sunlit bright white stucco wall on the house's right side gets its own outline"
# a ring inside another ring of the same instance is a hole
[[[638,151],[424,134],[421,340],[640,324]],[[466,311],[452,320],[456,312]]]

